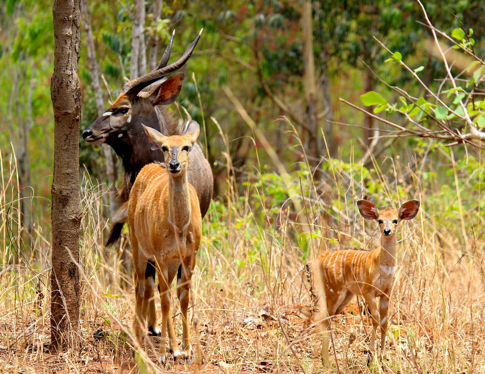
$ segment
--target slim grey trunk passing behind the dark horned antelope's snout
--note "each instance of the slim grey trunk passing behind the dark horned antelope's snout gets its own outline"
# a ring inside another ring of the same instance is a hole
[[[97,115],[100,116],[104,112],[103,92],[99,84],[99,71],[97,68],[96,50],[94,44],[93,31],[91,30],[91,14],[89,12],[88,0],[81,0],[82,11],[82,28],[86,35],[86,47],[88,50],[89,71],[91,73],[91,85],[93,86],[94,96],[96,100]],[[114,217],[116,213],[116,169],[113,162],[112,148],[108,144],[101,146],[103,150],[104,159],[106,161],[106,174],[108,175],[108,205],[110,207],[110,217]]]

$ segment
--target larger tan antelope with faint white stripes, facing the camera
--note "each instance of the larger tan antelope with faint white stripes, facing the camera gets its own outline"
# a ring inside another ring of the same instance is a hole
[[[199,125],[191,121],[183,136],[163,136],[157,130],[145,127],[153,149],[163,152],[165,167],[148,164],[138,174],[128,201],[128,224],[135,268],[136,311],[133,321],[139,344],[143,343],[148,309],[154,303],[154,277],[147,276],[147,262],[154,264],[159,279],[162,305],[162,328],[159,360],[166,360],[165,338],[168,330],[170,350],[174,358],[192,359],[190,345],[189,305],[190,280],[195,266],[195,255],[201,240],[202,217],[194,187],[187,177],[188,154],[199,134]],[[177,295],[182,314],[183,351],[177,349],[177,340],[170,314],[170,285],[181,266]],[[155,315],[155,313],[151,313]]]

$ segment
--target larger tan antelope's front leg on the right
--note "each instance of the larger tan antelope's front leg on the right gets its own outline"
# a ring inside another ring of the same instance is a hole
[[[182,262],[182,274],[177,286],[177,296],[180,302],[182,314],[182,347],[187,361],[192,361],[192,348],[190,345],[190,323],[187,315],[190,300],[190,281],[192,278],[192,256],[184,258]]]

